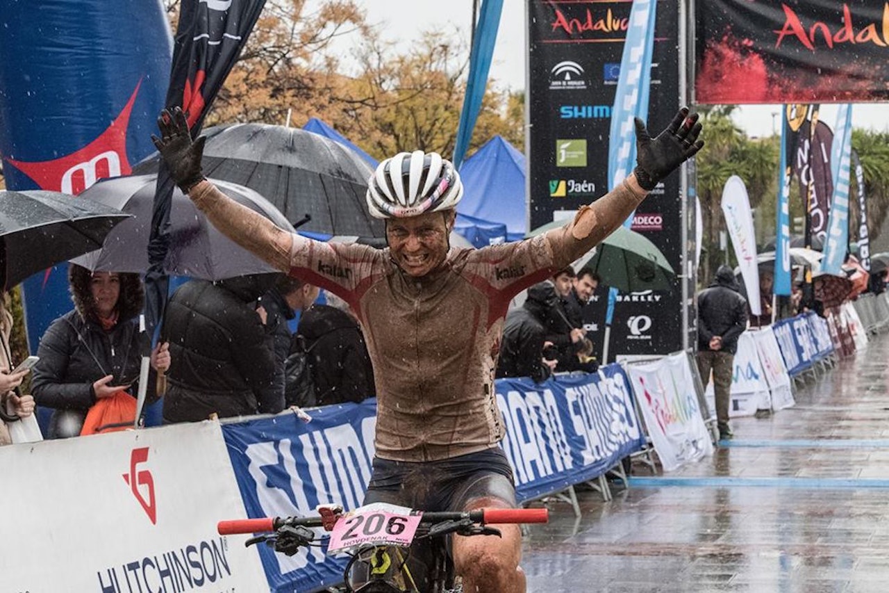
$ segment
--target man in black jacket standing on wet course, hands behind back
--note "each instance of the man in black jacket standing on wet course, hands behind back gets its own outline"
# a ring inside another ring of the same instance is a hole
[[[732,268],[720,265],[716,279],[698,295],[698,370],[704,385],[713,371],[720,439],[732,438],[728,407],[734,353],[744,329],[747,329],[747,300],[741,296]]]

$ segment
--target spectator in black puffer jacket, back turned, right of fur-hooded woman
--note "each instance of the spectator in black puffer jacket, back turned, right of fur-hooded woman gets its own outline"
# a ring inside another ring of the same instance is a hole
[[[275,414],[275,353],[256,302],[277,274],[209,282],[189,280],[170,297],[161,336],[172,364],[164,423]]]

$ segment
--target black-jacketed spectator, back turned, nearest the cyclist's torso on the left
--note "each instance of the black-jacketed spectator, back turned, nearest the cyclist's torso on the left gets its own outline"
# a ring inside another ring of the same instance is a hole
[[[308,351],[316,405],[361,402],[376,396],[373,366],[355,314],[339,296],[326,293],[327,305],[312,305],[300,315],[291,352]]]

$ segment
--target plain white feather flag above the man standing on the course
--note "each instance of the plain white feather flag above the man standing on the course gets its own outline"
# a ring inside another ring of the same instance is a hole
[[[722,198],[725,226],[732,237],[734,255],[741,268],[744,286],[747,288],[747,301],[754,315],[761,315],[759,298],[759,268],[757,267],[757,237],[753,232],[753,215],[750,213],[750,200],[747,188],[741,177],[732,175],[725,182]]]

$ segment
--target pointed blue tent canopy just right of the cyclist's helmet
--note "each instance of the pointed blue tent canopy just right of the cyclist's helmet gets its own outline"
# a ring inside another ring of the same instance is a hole
[[[525,237],[525,155],[494,136],[466,159],[460,176],[465,190],[459,213],[506,224],[508,240]]]

